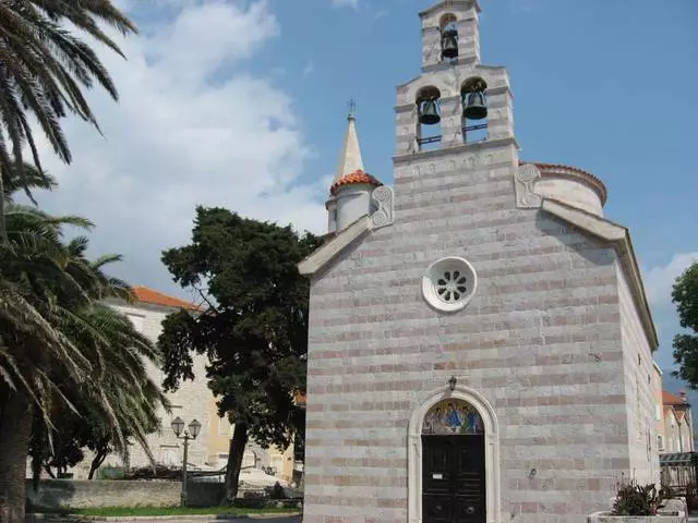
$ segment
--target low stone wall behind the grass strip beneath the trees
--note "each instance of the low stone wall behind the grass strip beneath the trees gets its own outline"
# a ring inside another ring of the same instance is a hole
[[[181,482],[41,479],[38,490],[27,481],[26,496],[36,509],[88,509],[96,507],[174,507],[180,503]],[[190,507],[214,507],[225,494],[221,483],[190,483]]]

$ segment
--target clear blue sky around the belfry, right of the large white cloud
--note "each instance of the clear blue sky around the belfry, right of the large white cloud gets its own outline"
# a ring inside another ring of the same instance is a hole
[[[366,168],[389,181],[395,85],[419,74],[417,12],[433,2],[373,0],[324,12],[323,3],[272,3],[285,35],[269,63],[284,57],[293,69],[313,68],[288,77],[320,153],[306,175],[334,167],[339,117],[354,96]],[[483,0],[481,8],[482,62],[509,71],[521,157],[601,178],[606,217],[630,228],[643,267],[698,251],[698,2]],[[666,366],[673,311],[657,308],[658,360]]]

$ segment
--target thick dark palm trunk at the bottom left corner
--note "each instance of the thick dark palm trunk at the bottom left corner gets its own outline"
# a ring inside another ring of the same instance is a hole
[[[0,386],[0,523],[24,523],[32,419],[28,399]]]

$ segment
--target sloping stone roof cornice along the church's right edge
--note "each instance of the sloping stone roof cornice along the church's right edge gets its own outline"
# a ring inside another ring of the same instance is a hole
[[[618,255],[621,268],[628,279],[630,293],[633,294],[645,336],[651,350],[655,351],[659,346],[659,339],[627,228],[555,199],[543,198],[541,209],[595,238],[613,244]]]

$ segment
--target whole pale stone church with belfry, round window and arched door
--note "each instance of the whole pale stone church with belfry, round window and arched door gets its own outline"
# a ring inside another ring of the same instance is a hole
[[[477,0],[420,13],[394,186],[350,113],[311,278],[304,523],[582,522],[659,477],[657,333],[628,230],[519,158]]]

